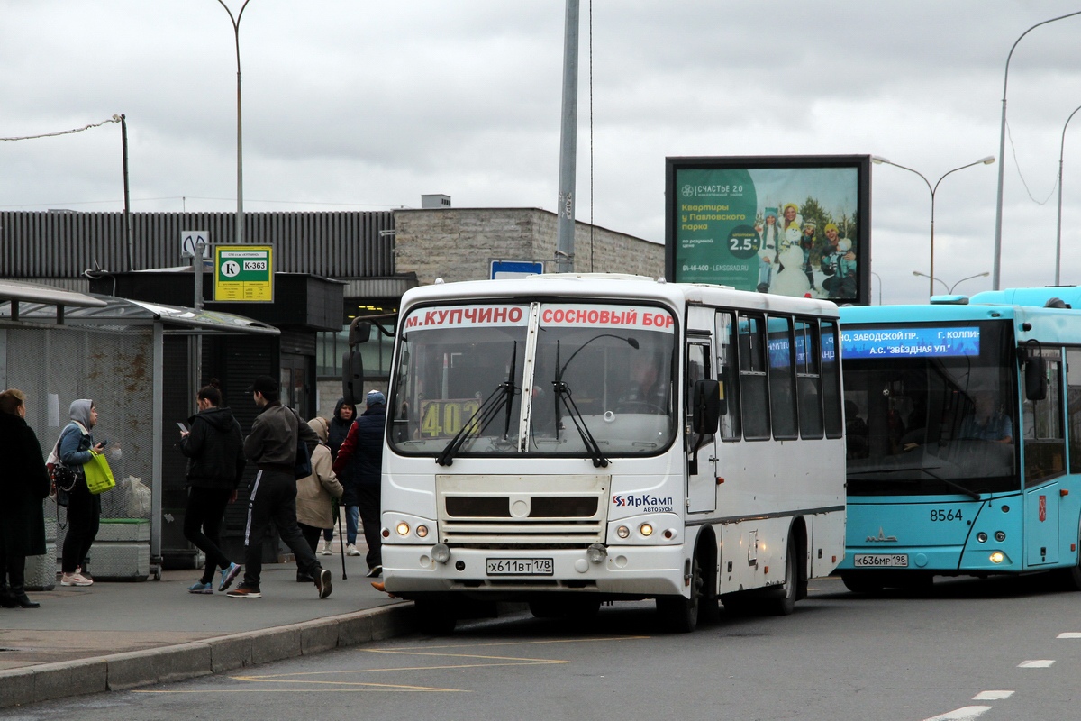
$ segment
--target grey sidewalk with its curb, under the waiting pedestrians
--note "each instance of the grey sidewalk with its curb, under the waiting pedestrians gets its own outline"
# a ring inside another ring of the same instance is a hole
[[[0,609],[0,708],[179,681],[413,630],[413,604],[372,588],[363,557],[346,559],[347,580],[338,556],[319,559],[334,579],[323,600],[313,584],[296,583],[294,563],[264,564],[259,599],[189,593],[198,570],[31,591],[40,609]]]

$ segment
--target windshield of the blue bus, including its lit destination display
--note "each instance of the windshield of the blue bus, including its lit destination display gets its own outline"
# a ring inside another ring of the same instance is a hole
[[[1010,325],[844,325],[849,495],[1020,488]]]

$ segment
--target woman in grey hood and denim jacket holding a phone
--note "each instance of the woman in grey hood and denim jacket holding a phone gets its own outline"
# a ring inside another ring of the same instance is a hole
[[[75,484],[68,492],[68,530],[64,536],[61,561],[61,586],[90,586],[94,579],[86,568],[86,556],[97,537],[97,526],[102,520],[102,498],[90,492],[83,466],[105,451],[106,441],[94,442],[90,433],[97,425],[97,409],[94,401],[81,398],[72,401],[68,409],[71,423],[64,427],[56,439],[50,463],[62,463],[75,473]]]

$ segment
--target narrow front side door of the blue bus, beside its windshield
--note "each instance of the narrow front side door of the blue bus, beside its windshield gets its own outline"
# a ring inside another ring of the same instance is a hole
[[[1058,563],[1059,483],[1066,472],[1062,379],[1058,349],[1043,349],[1047,392],[1043,400],[1025,400],[1022,440],[1025,468],[1026,565]],[[1024,377],[1024,376],[1023,376]]]

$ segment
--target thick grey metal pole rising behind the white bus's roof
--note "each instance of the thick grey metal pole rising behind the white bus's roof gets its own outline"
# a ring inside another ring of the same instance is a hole
[[[578,132],[578,0],[566,0],[563,29],[563,116],[559,133],[556,269],[574,271],[574,174]]]

